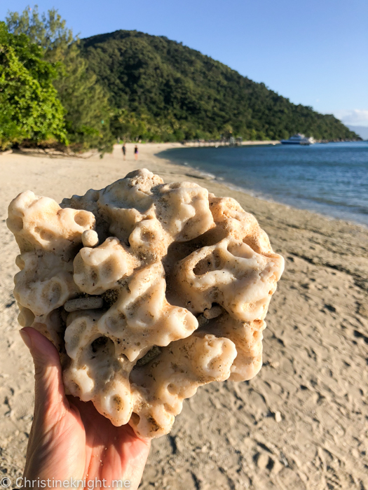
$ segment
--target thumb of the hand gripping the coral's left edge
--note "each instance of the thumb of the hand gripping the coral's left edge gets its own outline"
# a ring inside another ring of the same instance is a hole
[[[22,328],[20,336],[34,362],[34,414],[55,413],[60,405],[69,407],[62,383],[62,367],[55,346],[32,327]]]

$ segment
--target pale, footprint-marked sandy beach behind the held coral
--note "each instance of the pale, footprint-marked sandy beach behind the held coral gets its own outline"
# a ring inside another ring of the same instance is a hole
[[[209,384],[184,403],[170,435],[154,440],[142,488],[368,489],[368,229],[266,202],[157,158],[179,144],[128,144],[71,158],[0,156],[0,475],[22,475],[33,412],[33,364],[18,333],[18,246],[6,228],[24,190],[83,195],[146,167],[234,197],[257,217],[286,269],[266,317],[264,366],[244,383]]]

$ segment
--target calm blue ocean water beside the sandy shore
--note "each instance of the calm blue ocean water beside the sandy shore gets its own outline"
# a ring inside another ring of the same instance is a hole
[[[175,148],[158,156],[257,197],[368,226],[368,141]]]

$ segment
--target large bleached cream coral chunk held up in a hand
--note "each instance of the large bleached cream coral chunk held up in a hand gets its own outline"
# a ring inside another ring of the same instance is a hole
[[[60,206],[9,206],[19,322],[60,352],[64,384],[116,426],[170,431],[183,400],[261,368],[284,266],[257,220],[195,183],[137,170]]]

